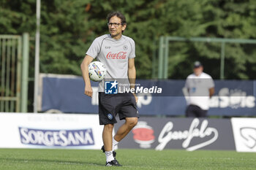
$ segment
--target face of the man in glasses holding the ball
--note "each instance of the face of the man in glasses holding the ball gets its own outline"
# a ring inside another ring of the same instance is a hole
[[[115,26],[114,23],[116,23],[118,26]],[[116,16],[113,16],[109,20],[108,30],[113,38],[120,38],[122,31],[124,31],[126,27],[126,25],[121,25],[121,19]]]

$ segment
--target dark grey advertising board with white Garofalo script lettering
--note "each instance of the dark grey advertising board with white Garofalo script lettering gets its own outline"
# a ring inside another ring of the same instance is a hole
[[[122,124],[119,122],[115,129]],[[235,150],[230,119],[140,117],[118,148]]]

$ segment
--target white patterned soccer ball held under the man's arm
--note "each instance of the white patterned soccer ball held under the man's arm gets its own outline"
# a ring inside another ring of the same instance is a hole
[[[89,77],[94,82],[99,82],[104,79],[107,74],[107,68],[104,63],[99,61],[91,62],[88,66]]]

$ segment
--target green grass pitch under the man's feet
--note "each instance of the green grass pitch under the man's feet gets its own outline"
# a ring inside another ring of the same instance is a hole
[[[122,167],[105,167],[100,150],[0,149],[0,169],[256,169],[256,154],[235,151],[117,150]]]

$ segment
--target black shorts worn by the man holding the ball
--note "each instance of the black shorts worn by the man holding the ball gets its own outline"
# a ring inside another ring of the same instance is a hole
[[[139,117],[135,96],[132,93],[105,94],[99,92],[99,125],[117,123],[125,117]]]

